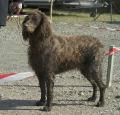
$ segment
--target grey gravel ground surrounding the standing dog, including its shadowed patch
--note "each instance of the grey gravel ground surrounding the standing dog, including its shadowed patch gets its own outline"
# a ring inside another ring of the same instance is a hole
[[[91,28],[90,26],[120,28],[120,23],[54,22],[54,32],[60,35],[92,35],[104,44],[106,52],[111,44],[120,46],[120,31]],[[84,26],[79,26],[84,25]],[[27,62],[27,42],[23,42],[21,28],[9,21],[0,29],[0,72],[32,71]],[[106,83],[106,56],[103,80]],[[112,86],[106,90],[104,107],[95,107],[97,101],[86,101],[92,95],[89,82],[77,71],[56,75],[53,109],[43,112],[35,106],[40,99],[36,76],[0,85],[0,115],[120,115],[120,53],[115,54]],[[98,94],[99,96],[99,94]]]

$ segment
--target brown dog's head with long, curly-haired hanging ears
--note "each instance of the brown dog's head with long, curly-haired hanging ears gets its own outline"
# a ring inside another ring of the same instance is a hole
[[[24,40],[30,39],[33,35],[34,37],[40,36],[42,38],[49,33],[51,33],[50,23],[43,12],[35,10],[25,17],[22,23],[22,35]]]

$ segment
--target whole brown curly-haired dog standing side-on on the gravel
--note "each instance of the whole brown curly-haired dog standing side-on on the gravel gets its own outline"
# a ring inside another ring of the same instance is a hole
[[[53,101],[55,74],[77,68],[92,84],[95,101],[97,87],[100,98],[97,106],[104,105],[105,85],[102,82],[103,45],[91,36],[54,35],[47,16],[35,11],[23,21],[23,39],[29,41],[29,64],[35,71],[41,89],[41,99],[36,105],[45,105],[50,111]],[[47,98],[47,102],[46,102]]]

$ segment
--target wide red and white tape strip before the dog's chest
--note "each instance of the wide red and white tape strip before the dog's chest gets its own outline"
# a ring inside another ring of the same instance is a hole
[[[10,81],[18,81],[32,76],[34,76],[33,72],[0,74],[0,84]]]

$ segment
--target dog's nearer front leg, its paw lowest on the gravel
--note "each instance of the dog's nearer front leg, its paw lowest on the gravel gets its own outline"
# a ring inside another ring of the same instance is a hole
[[[44,107],[45,111],[51,111],[53,101],[53,87],[54,87],[55,76],[53,73],[46,75],[46,86],[47,86],[47,103]]]

